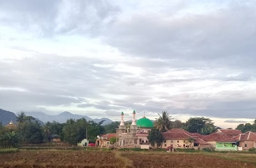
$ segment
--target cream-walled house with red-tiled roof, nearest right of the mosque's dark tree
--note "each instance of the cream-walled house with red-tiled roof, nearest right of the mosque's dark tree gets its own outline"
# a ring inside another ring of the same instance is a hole
[[[162,148],[173,146],[173,148],[193,148],[195,138],[190,133],[181,128],[173,128],[168,132],[163,132],[164,142]]]

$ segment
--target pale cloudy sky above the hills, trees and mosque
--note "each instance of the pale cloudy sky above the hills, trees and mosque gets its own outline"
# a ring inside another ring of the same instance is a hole
[[[256,118],[255,1],[0,0],[0,108]]]

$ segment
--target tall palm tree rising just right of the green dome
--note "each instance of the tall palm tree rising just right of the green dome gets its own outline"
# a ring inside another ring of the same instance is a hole
[[[156,118],[154,126],[159,129],[160,132],[166,132],[172,128],[172,116],[167,111],[163,111],[162,115],[158,114],[159,118]]]

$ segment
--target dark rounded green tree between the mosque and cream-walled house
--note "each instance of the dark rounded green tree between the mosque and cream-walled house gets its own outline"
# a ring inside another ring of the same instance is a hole
[[[159,147],[164,141],[163,134],[161,134],[161,132],[157,128],[152,128],[152,130],[150,130],[150,132],[148,133],[147,138],[151,146],[155,146],[155,144],[157,144],[157,147]]]

